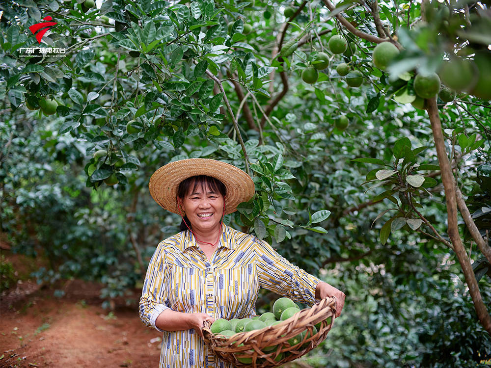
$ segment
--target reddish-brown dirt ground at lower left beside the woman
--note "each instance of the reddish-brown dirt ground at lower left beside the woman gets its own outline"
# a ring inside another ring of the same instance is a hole
[[[24,282],[2,296],[0,367],[158,367],[160,333],[142,324],[136,302],[109,312],[100,286],[75,280],[62,288],[56,298]]]

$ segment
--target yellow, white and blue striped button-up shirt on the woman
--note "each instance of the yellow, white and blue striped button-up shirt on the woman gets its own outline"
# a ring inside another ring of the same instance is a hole
[[[229,368],[196,331],[163,331],[155,326],[157,317],[167,308],[216,319],[252,317],[259,288],[312,306],[319,282],[265,241],[226,225],[209,262],[194,236],[185,231],[158,245],[145,276],[139,315],[147,326],[164,333],[160,368]]]

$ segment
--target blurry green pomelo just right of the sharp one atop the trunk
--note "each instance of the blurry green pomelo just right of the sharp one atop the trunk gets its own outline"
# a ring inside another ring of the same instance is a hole
[[[475,65],[461,58],[445,61],[438,75],[443,84],[459,92],[472,88],[476,82]]]

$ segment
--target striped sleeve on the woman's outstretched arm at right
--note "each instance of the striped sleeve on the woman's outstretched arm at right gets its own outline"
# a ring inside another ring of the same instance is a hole
[[[312,306],[315,289],[321,280],[279,255],[271,245],[257,240],[257,270],[259,286],[292,300]]]

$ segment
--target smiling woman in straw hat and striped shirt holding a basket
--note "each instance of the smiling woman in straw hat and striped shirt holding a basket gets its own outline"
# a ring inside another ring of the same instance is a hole
[[[150,193],[183,217],[181,232],[163,240],[148,265],[139,315],[163,332],[160,366],[231,367],[203,341],[203,323],[251,318],[260,288],[312,306],[344,293],[281,257],[265,241],[223,224],[254,195],[254,183],[228,163],[191,158],[168,163],[150,178]]]

